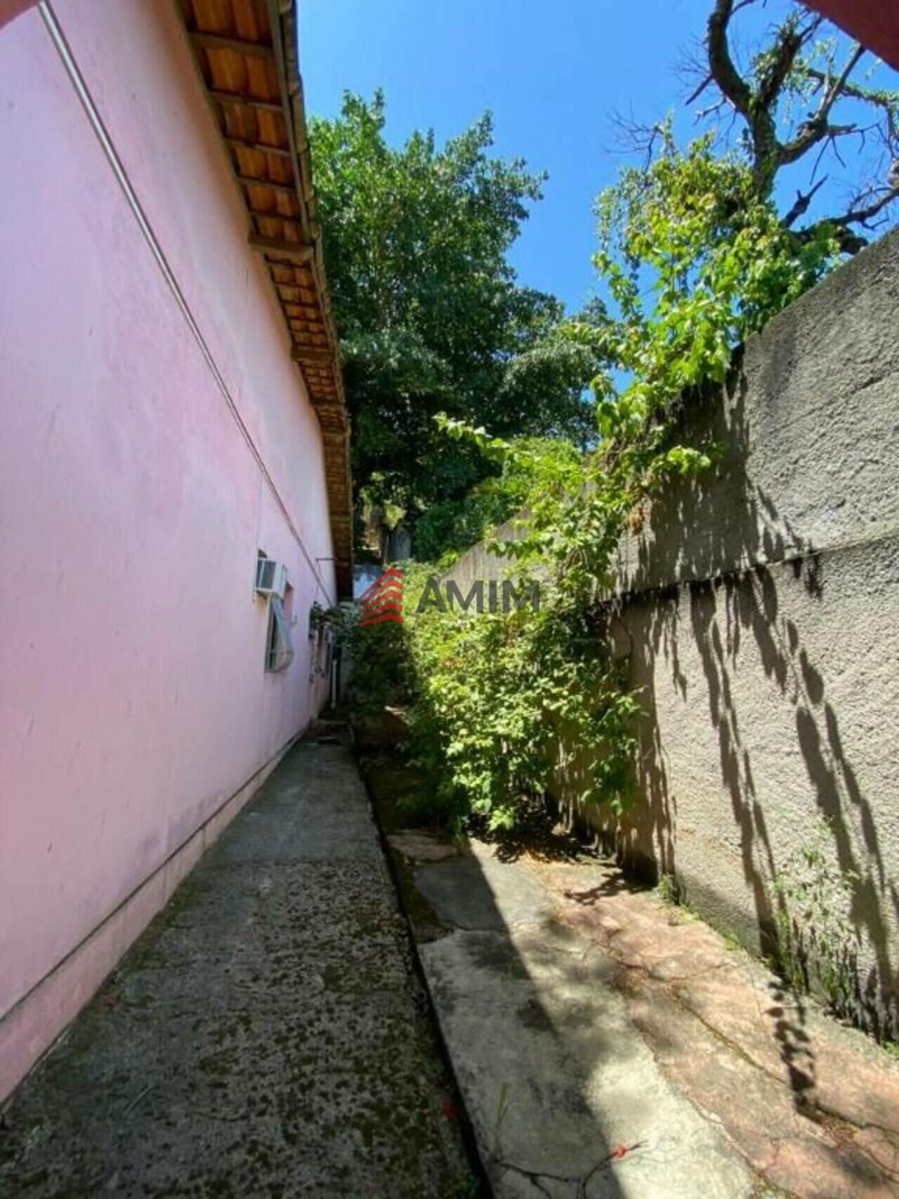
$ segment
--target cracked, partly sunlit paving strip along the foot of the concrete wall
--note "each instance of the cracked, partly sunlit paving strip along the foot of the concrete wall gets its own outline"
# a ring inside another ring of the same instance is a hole
[[[390,837],[501,1199],[899,1195],[899,1062],[563,837]]]

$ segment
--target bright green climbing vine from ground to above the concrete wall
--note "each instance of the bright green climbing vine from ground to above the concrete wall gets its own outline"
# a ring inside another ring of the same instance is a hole
[[[408,577],[412,752],[454,820],[508,827],[559,771],[583,802],[619,813],[632,801],[640,697],[610,637],[615,552],[672,477],[726,469],[726,446],[678,439],[682,409],[723,384],[734,348],[839,257],[827,227],[802,239],[784,228],[740,157],[717,156],[710,138],[680,152],[663,134],[654,162],[597,204],[595,264],[615,314],[566,330],[604,363],[595,444],[560,453],[440,418],[446,436],[526,480],[517,528],[488,546],[518,580],[538,580],[542,600],[538,611],[417,613],[434,567]]]

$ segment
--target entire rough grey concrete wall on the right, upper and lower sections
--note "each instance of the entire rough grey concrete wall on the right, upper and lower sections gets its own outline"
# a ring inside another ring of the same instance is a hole
[[[638,803],[619,825],[581,813],[756,947],[774,876],[820,849],[857,933],[862,1019],[894,1029],[898,335],[894,233],[753,337],[726,393],[688,416],[728,460],[622,544],[610,604],[646,710]],[[499,570],[478,548],[453,573]]]

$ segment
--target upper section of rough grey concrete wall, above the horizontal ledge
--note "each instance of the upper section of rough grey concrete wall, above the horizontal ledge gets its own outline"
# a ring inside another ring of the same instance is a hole
[[[777,562],[899,528],[899,233],[750,338],[722,400],[686,436],[729,446],[701,486],[666,495],[621,547],[619,590]]]

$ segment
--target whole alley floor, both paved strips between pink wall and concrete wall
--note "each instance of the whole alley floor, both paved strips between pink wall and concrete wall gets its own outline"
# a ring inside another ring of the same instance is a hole
[[[385,827],[393,872],[319,722],[18,1090],[0,1191],[899,1193],[869,1038],[562,832]]]

